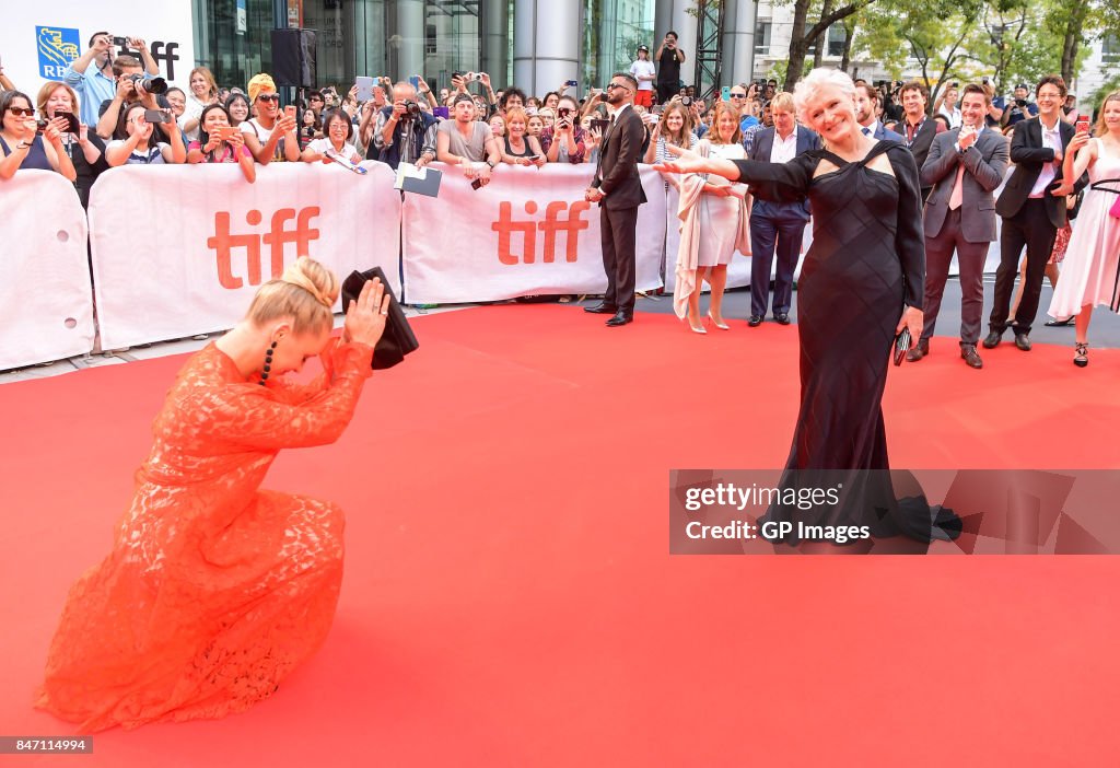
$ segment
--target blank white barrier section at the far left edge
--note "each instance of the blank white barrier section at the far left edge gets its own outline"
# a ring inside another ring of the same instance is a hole
[[[93,294],[74,185],[53,171],[21,170],[0,181],[0,369],[88,353]]]

